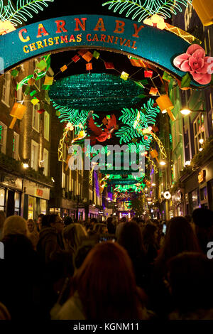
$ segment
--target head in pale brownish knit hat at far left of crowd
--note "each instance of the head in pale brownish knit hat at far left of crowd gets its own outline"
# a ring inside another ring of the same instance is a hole
[[[26,235],[26,220],[20,216],[10,216],[6,218],[3,227],[3,237],[6,235]]]

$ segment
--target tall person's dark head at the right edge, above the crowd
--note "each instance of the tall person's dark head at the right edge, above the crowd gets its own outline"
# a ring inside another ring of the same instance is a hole
[[[213,211],[209,209],[195,209],[192,212],[195,233],[204,254],[207,254],[207,244],[213,241]]]

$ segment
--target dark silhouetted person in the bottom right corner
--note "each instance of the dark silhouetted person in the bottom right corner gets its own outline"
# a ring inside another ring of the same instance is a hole
[[[175,310],[170,320],[213,320],[213,262],[202,253],[183,252],[168,262]]]

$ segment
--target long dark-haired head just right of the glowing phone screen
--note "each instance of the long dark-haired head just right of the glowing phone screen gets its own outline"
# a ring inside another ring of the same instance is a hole
[[[200,247],[190,222],[184,217],[174,217],[168,222],[165,243],[158,259],[165,263],[182,252],[200,252]]]

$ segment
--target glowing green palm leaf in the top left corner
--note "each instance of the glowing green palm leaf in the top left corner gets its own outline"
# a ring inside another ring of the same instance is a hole
[[[48,7],[48,2],[54,0],[18,0],[16,6],[11,0],[7,5],[4,5],[3,0],[0,0],[0,18],[1,21],[10,21],[13,26],[26,22],[28,18],[33,17],[33,13],[38,14],[38,11],[43,11],[44,7]]]

